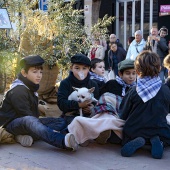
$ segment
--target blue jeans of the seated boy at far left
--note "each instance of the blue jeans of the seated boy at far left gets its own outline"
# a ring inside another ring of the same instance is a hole
[[[63,127],[62,127],[63,126]],[[30,135],[58,148],[65,148],[65,135],[55,132],[66,127],[62,118],[36,118],[25,116],[11,121],[6,130],[13,135]]]

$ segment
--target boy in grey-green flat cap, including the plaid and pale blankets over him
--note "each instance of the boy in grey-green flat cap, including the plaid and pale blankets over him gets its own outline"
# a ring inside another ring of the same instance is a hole
[[[134,61],[124,60],[119,63],[118,69],[121,78],[117,78],[117,81],[110,80],[106,83],[103,95],[94,107],[95,116],[92,118],[78,116],[68,126],[68,131],[75,135],[79,144],[83,143],[85,146],[88,144],[87,140],[96,138],[97,143],[104,144],[110,137],[111,130],[114,132],[112,131],[109,142],[121,142],[121,130],[124,121],[118,118],[119,105],[125,91],[136,80]]]

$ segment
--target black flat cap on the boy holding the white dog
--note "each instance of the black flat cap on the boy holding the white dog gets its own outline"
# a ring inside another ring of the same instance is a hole
[[[71,57],[71,63],[84,64],[87,66],[91,66],[90,59],[83,54],[76,54],[73,57]]]

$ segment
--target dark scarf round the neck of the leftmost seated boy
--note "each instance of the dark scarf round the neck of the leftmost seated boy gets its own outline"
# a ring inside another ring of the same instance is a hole
[[[36,92],[39,89],[39,84],[35,84],[28,80],[21,73],[18,75],[18,79],[21,80],[32,92]]]

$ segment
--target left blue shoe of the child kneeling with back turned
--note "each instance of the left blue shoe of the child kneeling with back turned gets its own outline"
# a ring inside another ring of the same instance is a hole
[[[124,157],[130,157],[136,152],[137,149],[145,145],[145,139],[137,137],[132,141],[126,143],[121,149],[121,155]]]

